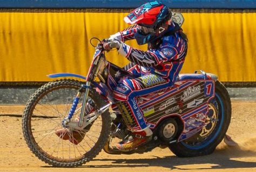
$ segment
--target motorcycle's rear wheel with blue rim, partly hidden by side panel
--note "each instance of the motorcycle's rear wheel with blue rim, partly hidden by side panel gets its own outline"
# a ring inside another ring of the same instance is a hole
[[[215,97],[208,104],[207,123],[200,132],[184,141],[169,145],[170,150],[180,157],[211,154],[223,140],[231,120],[231,100],[224,85],[215,82]]]

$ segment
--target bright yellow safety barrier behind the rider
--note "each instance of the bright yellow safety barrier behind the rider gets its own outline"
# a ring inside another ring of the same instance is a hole
[[[90,39],[123,30],[126,13],[0,13],[0,82],[50,81],[52,73],[86,75]],[[202,69],[225,82],[256,81],[256,13],[183,13],[188,54],[181,73]],[[135,40],[127,44],[140,49]],[[107,59],[128,61],[111,51]]]

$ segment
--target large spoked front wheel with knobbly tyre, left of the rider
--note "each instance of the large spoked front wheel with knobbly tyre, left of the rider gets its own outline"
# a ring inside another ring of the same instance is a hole
[[[63,130],[62,120],[68,116],[81,84],[75,80],[49,82],[31,96],[24,110],[22,128],[26,143],[39,159],[56,167],[76,167],[90,161],[102,150],[109,136],[109,111],[97,117],[84,130],[74,130],[82,138],[79,143],[73,144],[73,140],[56,134]],[[106,104],[93,89],[88,98],[95,104],[94,108],[100,109]],[[81,98],[71,120],[78,120],[82,101]],[[91,114],[92,111],[87,104],[85,113]],[[69,134],[75,133],[70,130]],[[73,135],[69,137],[75,138]]]

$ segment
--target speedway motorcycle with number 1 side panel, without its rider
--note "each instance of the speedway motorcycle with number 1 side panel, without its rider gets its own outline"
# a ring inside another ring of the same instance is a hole
[[[136,149],[117,149],[116,143],[131,134],[131,117],[113,98],[113,89],[123,77],[134,76],[106,60],[103,41],[95,48],[86,77],[48,75],[76,79],[46,83],[26,104],[23,135],[39,159],[56,167],[76,167],[102,149],[108,154],[142,154],[156,147],[192,157],[211,154],[223,140],[231,120],[230,96],[216,75],[197,70],[180,74],[172,87],[137,97],[152,138]],[[114,105],[121,114],[111,108]],[[56,135],[63,128],[69,132]]]

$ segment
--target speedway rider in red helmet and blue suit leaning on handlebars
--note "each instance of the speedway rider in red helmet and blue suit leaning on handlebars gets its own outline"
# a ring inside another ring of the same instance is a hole
[[[171,18],[172,12],[166,5],[158,1],[143,4],[124,18],[133,26],[111,35],[104,43],[106,50],[117,48],[131,61],[125,69],[138,76],[119,81],[114,89],[114,98],[122,101],[119,110],[125,113],[126,108],[133,119],[128,125],[133,134],[116,145],[120,150],[134,149],[149,141],[152,135],[137,97],[171,87],[183,66],[187,37]],[[131,39],[136,39],[139,45],[148,44],[148,50],[142,51],[124,43]]]

